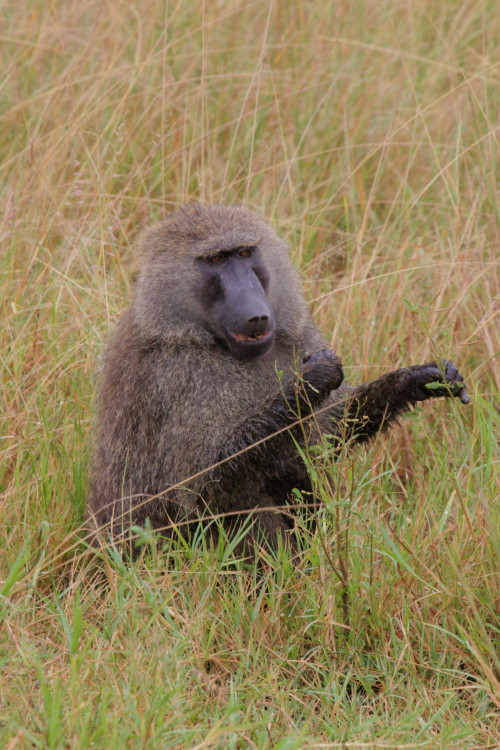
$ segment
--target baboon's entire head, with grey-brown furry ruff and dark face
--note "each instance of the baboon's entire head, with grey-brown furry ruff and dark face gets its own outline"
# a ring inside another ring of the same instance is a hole
[[[142,237],[136,319],[155,338],[246,360],[297,340],[306,309],[286,245],[240,206],[184,206]]]

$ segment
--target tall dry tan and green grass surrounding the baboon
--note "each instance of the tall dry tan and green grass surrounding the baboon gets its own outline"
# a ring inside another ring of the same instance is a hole
[[[497,748],[497,4],[4,0],[0,59],[0,746]],[[348,380],[471,396],[316,451],[297,566],[79,532],[134,238],[193,199],[269,217]]]

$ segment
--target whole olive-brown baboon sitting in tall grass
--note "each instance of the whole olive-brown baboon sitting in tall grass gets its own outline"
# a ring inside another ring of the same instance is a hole
[[[244,207],[184,206],[140,246],[100,371],[87,509],[105,536],[255,511],[250,538],[276,547],[293,536],[292,490],[311,490],[297,445],[318,429],[359,442],[418,401],[469,400],[446,360],[346,385],[287,246]]]

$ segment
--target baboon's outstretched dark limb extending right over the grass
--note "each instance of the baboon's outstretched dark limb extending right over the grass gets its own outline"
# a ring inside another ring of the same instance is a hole
[[[430,384],[432,387],[427,387]],[[344,420],[338,410],[334,418],[339,421],[339,432],[345,441],[363,441],[387,429],[413,404],[449,396],[468,403],[462,375],[447,360],[429,362],[403,367],[354,388],[344,404]]]

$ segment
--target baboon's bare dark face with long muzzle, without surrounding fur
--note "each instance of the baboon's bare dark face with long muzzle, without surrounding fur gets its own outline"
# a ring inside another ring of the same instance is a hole
[[[218,341],[240,359],[269,351],[276,325],[259,248],[214,250],[198,257],[196,266],[199,300]]]

